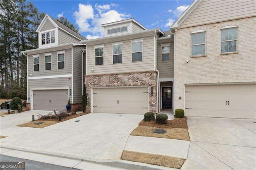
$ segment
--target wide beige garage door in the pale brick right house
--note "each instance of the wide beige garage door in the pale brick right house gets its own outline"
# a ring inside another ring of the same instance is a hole
[[[186,116],[256,119],[256,84],[185,87]]]

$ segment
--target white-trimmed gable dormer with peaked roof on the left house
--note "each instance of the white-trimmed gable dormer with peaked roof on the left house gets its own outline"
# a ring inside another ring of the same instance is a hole
[[[38,48],[87,40],[48,14],[44,16],[36,32],[38,32]]]

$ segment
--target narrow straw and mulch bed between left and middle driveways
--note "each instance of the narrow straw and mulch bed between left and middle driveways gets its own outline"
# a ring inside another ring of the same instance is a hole
[[[82,116],[82,115],[86,115],[87,113],[80,113],[80,114],[76,114],[76,115],[70,115],[66,118],[61,119],[61,121],[58,121],[56,119],[48,119],[48,120],[35,120],[32,122],[28,122],[28,123],[24,123],[21,125],[18,125],[17,127],[33,127],[33,128],[44,128],[44,127],[48,127],[51,125],[54,125],[56,123],[60,123],[60,122],[64,122],[67,121],[69,119],[74,119],[76,117]],[[43,122],[40,125],[35,125],[35,123],[39,123],[39,122]]]

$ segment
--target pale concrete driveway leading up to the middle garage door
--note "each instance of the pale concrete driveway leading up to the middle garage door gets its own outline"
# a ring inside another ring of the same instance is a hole
[[[90,113],[45,128],[1,128],[0,135],[8,137],[0,142],[1,146],[87,159],[119,159],[129,134],[142,119],[143,115]]]

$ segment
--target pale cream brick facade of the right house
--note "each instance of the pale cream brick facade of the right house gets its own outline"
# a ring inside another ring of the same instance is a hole
[[[230,25],[238,26],[238,53],[221,55],[220,28]],[[206,30],[205,57],[191,57],[190,33],[196,30]],[[184,109],[186,84],[241,82],[256,82],[256,17],[176,31],[175,109]]]

